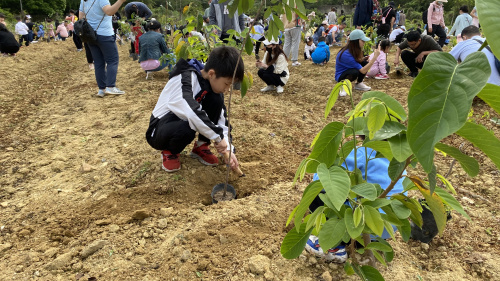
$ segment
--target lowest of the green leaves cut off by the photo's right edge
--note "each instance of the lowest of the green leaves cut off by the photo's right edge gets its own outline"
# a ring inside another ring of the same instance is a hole
[[[500,140],[493,133],[481,125],[467,122],[458,130],[457,134],[481,149],[495,163],[497,168],[500,169],[500,149],[498,149],[500,147]]]

